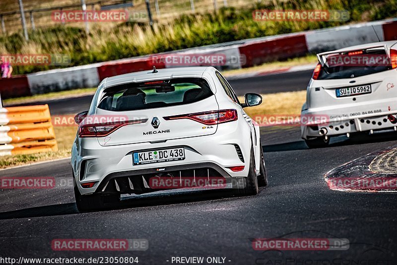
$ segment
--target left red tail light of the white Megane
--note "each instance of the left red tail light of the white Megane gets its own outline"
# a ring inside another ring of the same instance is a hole
[[[84,124],[78,127],[78,137],[104,137],[126,125],[145,123],[147,119],[101,124]]]

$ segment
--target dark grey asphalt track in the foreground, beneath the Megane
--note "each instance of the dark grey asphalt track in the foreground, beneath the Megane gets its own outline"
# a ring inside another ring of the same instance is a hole
[[[237,90],[237,89],[236,89]],[[395,144],[396,133],[331,139],[308,149],[298,127],[261,128],[269,185],[257,196],[220,191],[151,194],[78,213],[72,189],[0,190],[0,258],[224,257],[225,264],[366,265],[397,261],[397,193],[331,191],[324,175]],[[0,171],[8,177],[71,178],[68,159]],[[343,238],[348,250],[258,251],[255,238]],[[53,251],[54,239],[147,239],[146,251]],[[168,262],[167,262],[168,261]],[[190,263],[192,264],[192,263]],[[203,264],[207,264],[204,262]]]

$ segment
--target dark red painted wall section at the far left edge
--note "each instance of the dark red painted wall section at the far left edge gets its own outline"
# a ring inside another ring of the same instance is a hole
[[[12,78],[0,78],[0,93],[2,99],[32,95],[28,79],[24,75]]]

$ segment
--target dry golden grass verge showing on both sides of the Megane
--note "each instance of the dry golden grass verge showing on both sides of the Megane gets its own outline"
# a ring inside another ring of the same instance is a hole
[[[253,117],[265,114],[300,114],[302,104],[306,99],[306,91],[266,94],[263,97],[262,105],[246,109],[248,115]],[[244,99],[240,98],[240,100],[243,101]],[[2,156],[0,157],[0,168],[70,156],[76,129],[77,127],[54,127],[59,148],[57,152]]]

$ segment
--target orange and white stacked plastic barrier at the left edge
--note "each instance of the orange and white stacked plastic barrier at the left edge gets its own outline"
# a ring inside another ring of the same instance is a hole
[[[57,150],[48,105],[0,108],[0,155]]]

